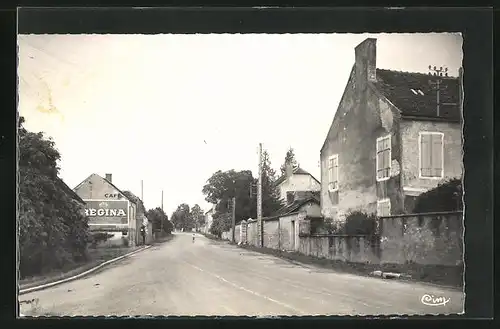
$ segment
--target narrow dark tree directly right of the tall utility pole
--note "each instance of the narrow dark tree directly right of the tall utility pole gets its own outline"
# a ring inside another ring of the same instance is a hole
[[[275,184],[276,171],[271,167],[267,150],[262,152],[262,216],[272,216],[283,207],[279,190]]]

